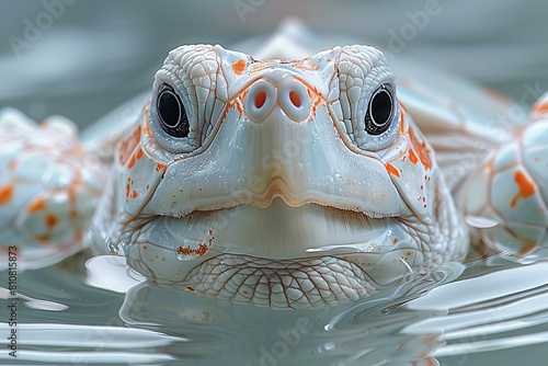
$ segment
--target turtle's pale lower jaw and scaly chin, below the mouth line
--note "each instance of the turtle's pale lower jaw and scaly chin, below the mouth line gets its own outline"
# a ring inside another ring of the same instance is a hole
[[[128,247],[128,264],[156,283],[274,309],[368,297],[420,261],[397,217],[282,199],[269,208],[156,216],[136,228],[142,244]]]

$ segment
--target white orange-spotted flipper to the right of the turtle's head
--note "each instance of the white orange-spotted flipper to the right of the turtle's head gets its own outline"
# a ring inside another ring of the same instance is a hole
[[[548,93],[515,138],[470,174],[457,203],[476,226],[472,243],[482,253],[521,262],[548,258]]]

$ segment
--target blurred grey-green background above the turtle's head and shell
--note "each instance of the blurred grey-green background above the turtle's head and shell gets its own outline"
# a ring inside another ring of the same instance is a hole
[[[530,104],[548,90],[547,14],[544,0],[0,0],[0,107],[83,126],[150,88],[171,48],[230,47],[288,16]]]

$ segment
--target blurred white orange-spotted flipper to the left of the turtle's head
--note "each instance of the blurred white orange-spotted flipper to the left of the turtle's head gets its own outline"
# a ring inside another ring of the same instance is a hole
[[[38,125],[20,111],[0,111],[0,250],[15,250],[19,270],[82,248],[106,180],[95,160],[67,118]],[[0,270],[7,261],[0,256]]]

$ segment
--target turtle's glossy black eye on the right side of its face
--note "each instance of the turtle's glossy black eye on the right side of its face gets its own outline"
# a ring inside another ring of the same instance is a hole
[[[383,84],[372,95],[365,114],[365,130],[369,135],[380,135],[390,127],[393,114],[392,87]]]

